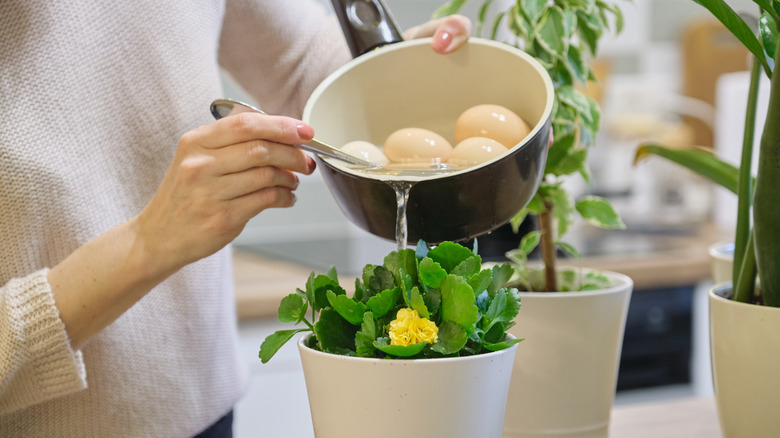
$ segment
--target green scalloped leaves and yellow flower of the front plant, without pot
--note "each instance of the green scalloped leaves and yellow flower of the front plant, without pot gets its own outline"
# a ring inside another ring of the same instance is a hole
[[[314,272],[305,290],[282,299],[279,320],[303,327],[280,330],[260,346],[263,363],[297,333],[326,353],[370,358],[436,358],[498,351],[521,341],[506,335],[520,309],[517,289],[504,285],[509,265],[482,268],[480,256],[443,242],[431,249],[393,251],[366,265],[348,296],[335,268]]]

